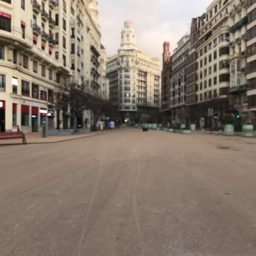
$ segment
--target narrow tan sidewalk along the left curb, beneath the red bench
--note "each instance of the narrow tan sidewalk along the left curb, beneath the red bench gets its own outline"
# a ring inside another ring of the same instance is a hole
[[[56,143],[65,142],[68,140],[75,140],[85,137],[92,137],[96,135],[103,135],[105,131],[98,130],[96,132],[91,132],[90,129],[85,129],[84,134],[74,134],[68,136],[48,136],[46,138],[42,137],[42,132],[26,132],[27,144],[38,144],[38,143]],[[11,144],[22,144],[22,139],[12,139],[12,140],[0,140],[1,145],[11,145]]]

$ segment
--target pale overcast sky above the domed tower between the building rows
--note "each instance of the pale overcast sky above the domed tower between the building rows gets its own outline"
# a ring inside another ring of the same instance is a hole
[[[193,17],[206,11],[213,0],[98,0],[101,43],[108,55],[117,53],[124,21],[135,30],[137,48],[143,54],[162,60],[163,43],[170,42],[171,53],[177,41],[190,30]]]

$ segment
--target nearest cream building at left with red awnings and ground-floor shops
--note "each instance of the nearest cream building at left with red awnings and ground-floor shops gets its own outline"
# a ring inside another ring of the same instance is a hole
[[[0,1],[1,132],[38,130],[54,118],[54,88],[69,74],[69,9],[64,1]],[[54,39],[54,35],[56,35]]]

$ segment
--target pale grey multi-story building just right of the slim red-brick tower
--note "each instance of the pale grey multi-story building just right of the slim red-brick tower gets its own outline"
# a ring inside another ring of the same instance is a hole
[[[172,55],[170,108],[171,119],[176,123],[186,123],[189,117],[186,108],[186,60],[190,51],[190,35],[182,36]]]

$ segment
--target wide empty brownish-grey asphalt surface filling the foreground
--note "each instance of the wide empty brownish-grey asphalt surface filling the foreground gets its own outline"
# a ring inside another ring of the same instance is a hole
[[[140,129],[0,147],[1,256],[255,256],[256,139]]]

